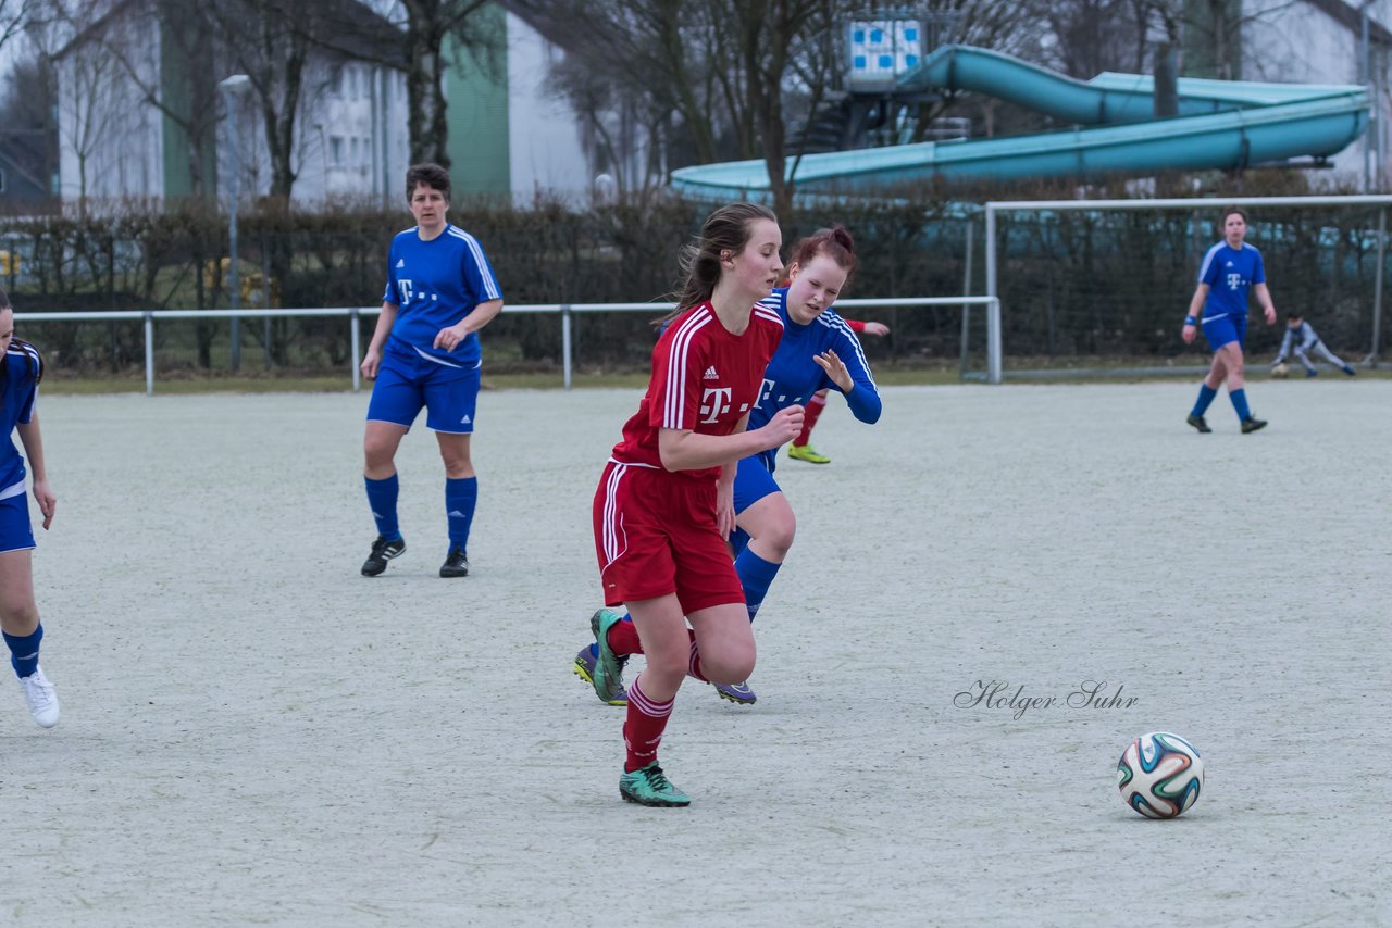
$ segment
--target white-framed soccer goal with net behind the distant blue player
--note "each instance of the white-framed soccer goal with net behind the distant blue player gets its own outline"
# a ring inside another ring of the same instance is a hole
[[[1179,348],[1178,320],[1228,206],[1251,214],[1278,312],[1302,312],[1349,360],[1377,366],[1392,195],[987,202],[986,294],[1001,301],[1009,356],[1205,362]]]

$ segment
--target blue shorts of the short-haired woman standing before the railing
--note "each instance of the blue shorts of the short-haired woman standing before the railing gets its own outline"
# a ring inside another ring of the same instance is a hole
[[[372,399],[367,401],[367,422],[390,422],[411,429],[425,406],[427,429],[472,434],[482,366],[451,367],[408,351],[388,345],[383,352]]]

